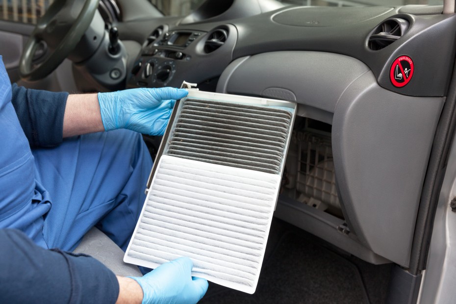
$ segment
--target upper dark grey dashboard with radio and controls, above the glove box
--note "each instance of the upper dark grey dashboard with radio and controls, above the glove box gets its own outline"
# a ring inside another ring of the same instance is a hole
[[[191,16],[164,24],[152,21],[127,85],[179,86],[183,80],[204,84],[214,82],[230,62],[244,56],[271,51],[323,51],[360,60],[386,89],[412,96],[443,96],[448,83],[437,79],[430,83],[428,75],[443,79],[451,73],[454,56],[449,50],[453,41],[447,37],[454,30],[450,25],[454,17],[442,15],[439,10],[441,6],[421,5],[287,6],[243,18],[216,18],[222,19],[218,21],[208,17],[195,23],[183,22]],[[405,25],[394,47],[376,50],[369,38],[388,22]],[[387,63],[402,53],[419,57],[426,73],[416,74],[416,81],[398,90],[389,80]]]

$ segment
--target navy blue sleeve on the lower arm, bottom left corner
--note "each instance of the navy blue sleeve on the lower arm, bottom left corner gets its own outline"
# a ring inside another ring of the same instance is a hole
[[[116,276],[87,255],[46,250],[0,229],[0,303],[115,303]]]

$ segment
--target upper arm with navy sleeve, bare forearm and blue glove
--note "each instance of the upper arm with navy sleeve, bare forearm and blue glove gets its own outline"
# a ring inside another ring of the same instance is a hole
[[[188,92],[176,88],[138,88],[74,94],[12,85],[11,102],[31,147],[53,147],[64,137],[126,128],[162,135],[174,101]]]

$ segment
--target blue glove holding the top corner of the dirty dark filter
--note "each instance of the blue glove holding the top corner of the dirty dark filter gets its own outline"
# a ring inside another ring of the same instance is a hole
[[[101,121],[106,131],[124,128],[163,135],[176,100],[187,94],[185,89],[169,87],[98,93]]]

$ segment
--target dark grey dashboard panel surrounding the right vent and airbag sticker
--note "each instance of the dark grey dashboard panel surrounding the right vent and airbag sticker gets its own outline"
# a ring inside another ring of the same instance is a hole
[[[341,14],[339,9],[344,13]],[[301,20],[290,21],[289,24],[293,22],[305,26],[281,25],[272,21],[279,11],[235,20],[233,24],[238,29],[239,39],[233,58],[281,50],[336,52],[364,62],[374,72],[380,85],[391,91],[411,96],[444,96],[455,59],[456,15],[399,14],[400,9],[397,7],[377,17],[359,21],[356,18],[359,8],[356,7],[320,7],[316,10],[303,7],[299,9],[303,12],[299,17]],[[364,15],[371,13],[375,16],[378,10],[376,6],[363,7]],[[350,15],[350,20],[357,19],[358,22],[345,23],[340,20],[341,15]],[[391,16],[406,19],[410,23],[409,30],[392,45],[380,51],[370,50],[367,46],[370,34]],[[308,26],[312,23],[320,25],[320,20],[325,22],[331,18],[336,20],[332,22],[335,26]],[[406,86],[396,88],[390,81],[389,72],[393,61],[401,55],[412,58],[415,72]],[[337,63],[334,63],[334,68],[338,68]]]

